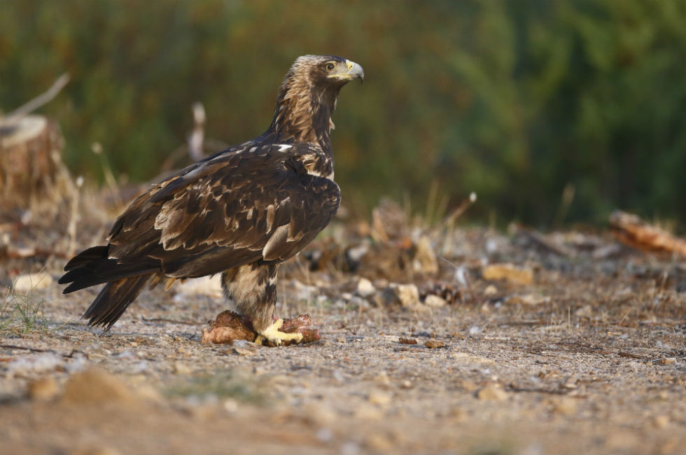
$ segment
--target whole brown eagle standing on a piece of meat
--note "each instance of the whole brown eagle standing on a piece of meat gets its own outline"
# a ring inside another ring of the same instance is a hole
[[[107,245],[88,248],[64,267],[59,282],[70,283],[64,293],[106,283],[83,317],[109,329],[145,286],[221,273],[225,296],[278,344],[286,334],[272,325],[276,271],[336,213],[331,115],[339,90],[354,78],[362,79],[363,70],[349,60],[299,57],[264,134],[137,197]]]

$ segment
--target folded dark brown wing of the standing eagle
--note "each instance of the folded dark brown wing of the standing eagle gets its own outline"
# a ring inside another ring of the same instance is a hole
[[[113,225],[109,257],[159,260],[176,277],[290,258],[340,202],[334,181],[307,174],[297,147],[220,153],[151,188]]]

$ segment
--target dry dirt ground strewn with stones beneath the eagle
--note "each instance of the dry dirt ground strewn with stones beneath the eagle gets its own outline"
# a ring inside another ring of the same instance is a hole
[[[377,211],[282,269],[277,313],[311,314],[320,341],[206,345],[216,281],[88,328],[97,290],[61,294],[69,223],[53,215],[0,226],[0,284],[34,273],[0,295],[0,453],[686,453],[678,256]],[[82,221],[76,248],[112,219]]]

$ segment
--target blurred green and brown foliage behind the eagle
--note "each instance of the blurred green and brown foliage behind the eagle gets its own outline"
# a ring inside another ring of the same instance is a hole
[[[333,135],[356,209],[433,185],[472,216],[605,223],[615,208],[686,221],[682,0],[0,1],[0,106],[69,71],[41,111],[74,172],[152,179],[186,140],[263,132],[293,59],[365,68]],[[183,163],[185,164],[185,163]],[[568,203],[561,202],[568,188]]]

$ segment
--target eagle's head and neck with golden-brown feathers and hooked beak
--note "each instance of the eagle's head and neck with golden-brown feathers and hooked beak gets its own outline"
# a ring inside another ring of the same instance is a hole
[[[331,114],[338,94],[353,79],[363,80],[362,66],[335,55],[297,57],[283,78],[269,130],[279,141],[302,141],[330,147]]]

